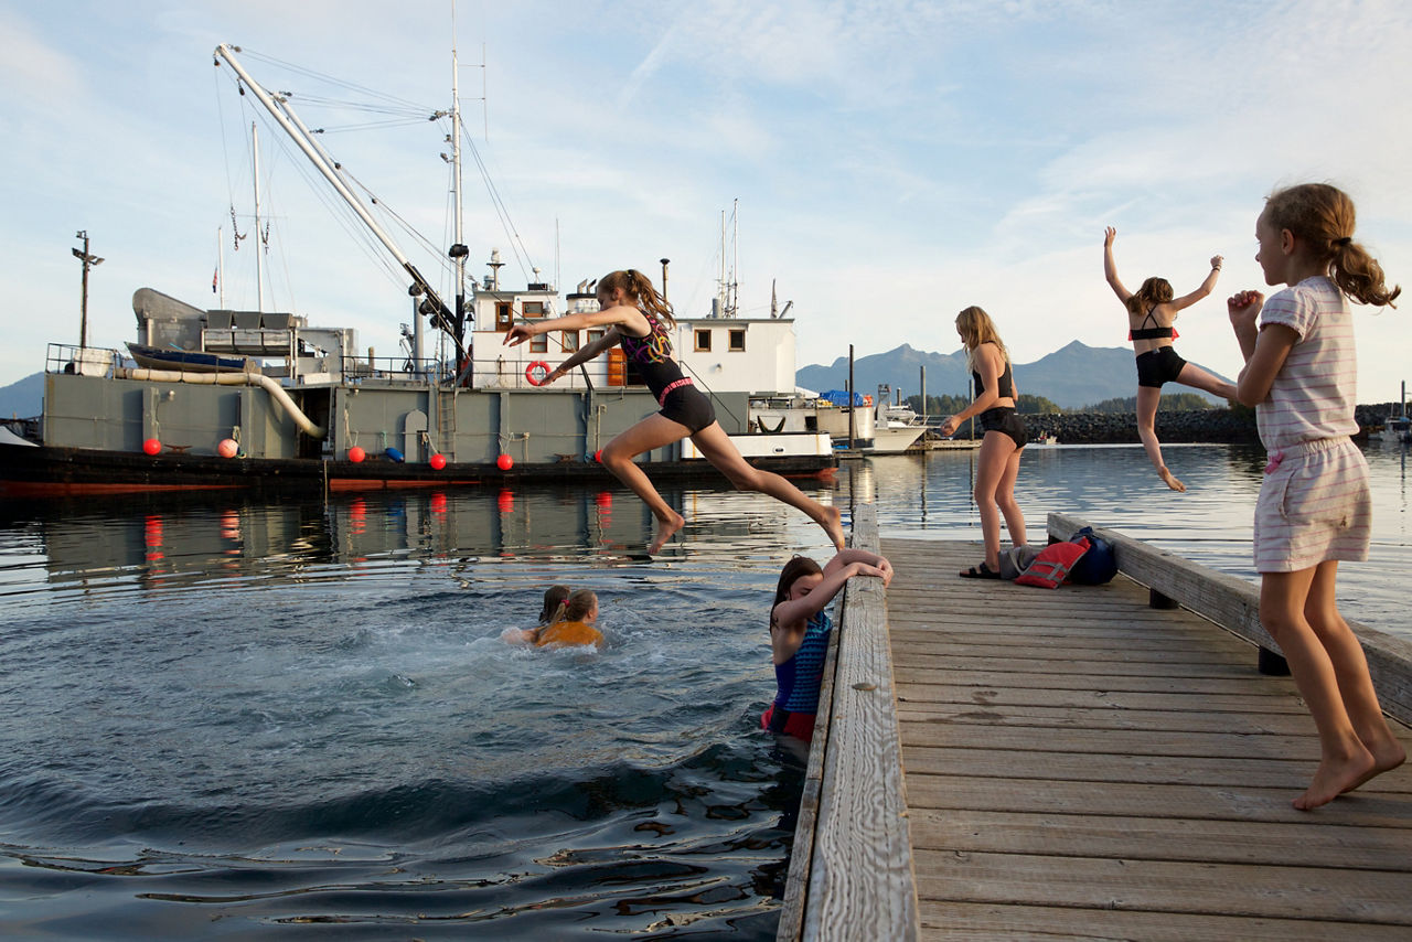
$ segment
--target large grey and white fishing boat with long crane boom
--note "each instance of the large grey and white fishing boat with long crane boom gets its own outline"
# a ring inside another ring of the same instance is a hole
[[[217,47],[217,64],[236,72],[409,278],[412,323],[402,325],[398,356],[364,354],[353,329],[311,326],[304,315],[201,309],[141,288],[128,353],[89,346],[86,336],[79,346],[49,345],[37,441],[0,436],[0,496],[606,479],[599,451],[658,408],[633,364],[613,349],[541,388],[552,364],[599,332],[503,343],[517,319],[596,309],[593,285],[562,295],[545,281],[508,288],[497,251],[489,274],[467,284],[457,199],[448,256],[462,278],[448,306],[287,97],[260,86],[236,52]],[[452,116],[459,193],[455,106]],[[712,316],[683,316],[675,352],[748,460],[791,476],[832,476],[827,432],[772,428],[753,410],[753,401],[794,390],[794,319],[771,314],[740,318],[734,305],[716,305]],[[428,332],[441,353],[424,353]],[[654,477],[717,475],[689,439],[645,455],[642,465]]]

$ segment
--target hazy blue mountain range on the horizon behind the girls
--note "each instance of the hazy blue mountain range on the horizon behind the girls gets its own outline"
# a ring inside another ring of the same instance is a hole
[[[916,395],[921,391],[923,366],[928,395],[970,397],[966,350],[926,353],[907,343],[887,353],[857,357],[853,362],[853,388],[857,393],[873,394],[878,386],[887,384],[894,390],[894,397],[898,388],[902,390],[902,398]],[[1014,370],[1015,386],[1021,393],[1042,395],[1066,410],[1137,394],[1131,347],[1091,347],[1075,340],[1034,363],[1015,363]],[[846,388],[847,381],[849,359],[842,356],[830,366],[805,366],[795,370],[795,383],[819,393]],[[1224,405],[1221,400],[1185,386],[1180,391],[1204,395],[1211,403]]]

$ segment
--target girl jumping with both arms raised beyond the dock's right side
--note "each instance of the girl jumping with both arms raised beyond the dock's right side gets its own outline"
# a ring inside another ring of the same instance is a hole
[[[1138,438],[1148,453],[1152,467],[1172,490],[1186,490],[1186,484],[1168,470],[1162,460],[1162,443],[1156,441],[1156,407],[1162,401],[1163,383],[1182,383],[1227,400],[1236,398],[1236,387],[1211,376],[1199,366],[1192,366],[1172,349],[1176,329],[1172,322],[1183,308],[1189,308],[1216,288],[1221,274],[1221,257],[1211,256],[1211,271],[1192,294],[1172,297],[1172,284],[1166,278],[1148,278],[1132,294],[1118,280],[1118,266],[1113,261],[1113,240],[1118,230],[1108,226],[1103,234],[1103,274],[1108,287],[1118,295],[1128,312],[1128,339],[1138,364]]]

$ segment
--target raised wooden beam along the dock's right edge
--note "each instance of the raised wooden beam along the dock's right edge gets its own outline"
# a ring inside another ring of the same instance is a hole
[[[1070,514],[1049,514],[1051,539],[1069,539],[1089,525],[1091,524]],[[1257,586],[1124,537],[1114,530],[1094,527],[1093,531],[1113,544],[1118,571],[1134,582],[1145,585],[1154,593],[1155,606],[1169,599],[1238,634],[1262,651],[1279,651],[1279,645],[1260,624]],[[1363,643],[1372,685],[1384,712],[1412,725],[1412,641],[1353,621],[1348,627]]]

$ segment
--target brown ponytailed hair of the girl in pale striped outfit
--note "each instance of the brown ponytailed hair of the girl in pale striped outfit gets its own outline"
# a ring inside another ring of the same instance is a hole
[[[1348,193],[1329,184],[1299,184],[1275,191],[1265,199],[1265,220],[1276,230],[1288,229],[1302,239],[1316,261],[1329,266],[1339,290],[1358,304],[1396,305],[1402,294],[1384,282],[1382,266],[1353,240],[1354,209]]]

